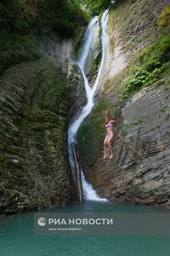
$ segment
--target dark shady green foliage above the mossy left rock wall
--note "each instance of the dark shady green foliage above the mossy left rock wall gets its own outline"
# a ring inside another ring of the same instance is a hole
[[[2,1],[0,75],[12,65],[35,61],[41,57],[38,46],[44,29],[52,28],[62,38],[69,38],[87,23],[86,15],[74,1]]]

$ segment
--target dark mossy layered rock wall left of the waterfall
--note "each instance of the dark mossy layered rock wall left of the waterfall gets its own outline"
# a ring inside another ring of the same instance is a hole
[[[64,77],[42,58],[1,77],[0,212],[64,205],[71,197]]]

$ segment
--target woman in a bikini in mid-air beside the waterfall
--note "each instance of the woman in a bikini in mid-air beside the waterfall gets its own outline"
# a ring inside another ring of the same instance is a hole
[[[107,129],[107,134],[106,134],[106,138],[104,140],[104,157],[103,159],[106,157],[107,155],[107,148],[106,145],[108,145],[108,147],[110,148],[110,157],[113,157],[113,150],[111,147],[111,140],[113,140],[113,123],[115,123],[115,120],[110,120],[109,117],[110,114],[110,109],[107,109],[106,111],[106,118],[105,118],[105,124],[102,126],[102,128],[106,128]],[[113,115],[113,118],[115,119],[115,115]]]

